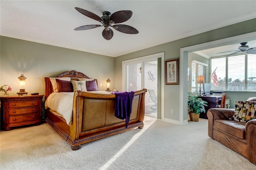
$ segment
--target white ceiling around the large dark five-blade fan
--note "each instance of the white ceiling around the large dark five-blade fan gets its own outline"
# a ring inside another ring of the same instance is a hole
[[[112,57],[256,18],[255,0],[1,0],[0,6],[2,36]],[[108,41],[102,37],[103,27],[74,31],[79,26],[100,24],[80,14],[75,7],[98,16],[104,11],[131,10],[132,17],[122,24],[136,28],[139,34],[113,30],[114,36]],[[234,50],[238,45],[235,44]],[[223,51],[231,50],[225,48],[219,52]]]

